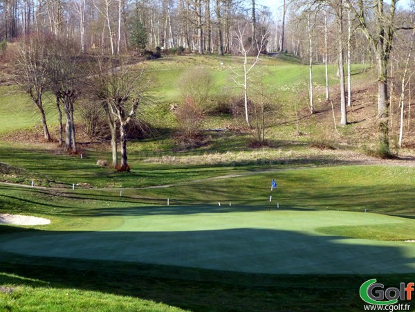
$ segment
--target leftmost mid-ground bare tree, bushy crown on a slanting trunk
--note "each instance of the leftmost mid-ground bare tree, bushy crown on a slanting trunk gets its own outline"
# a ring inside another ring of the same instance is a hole
[[[41,34],[25,37],[19,46],[15,81],[21,90],[28,93],[40,113],[44,139],[50,141],[42,95],[46,90],[46,48]]]

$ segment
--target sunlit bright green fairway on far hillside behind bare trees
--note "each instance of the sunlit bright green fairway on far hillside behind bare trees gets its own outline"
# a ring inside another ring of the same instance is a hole
[[[224,63],[221,66],[221,63]],[[232,82],[234,71],[241,71],[242,60],[239,57],[217,57],[217,56],[185,56],[185,57],[167,57],[153,62],[147,62],[147,73],[150,80],[153,82],[150,94],[153,96],[152,100],[156,102],[157,109],[150,109],[151,113],[156,112],[160,114],[160,107],[163,107],[168,102],[180,102],[181,95],[178,86],[178,78],[181,77],[184,71],[195,66],[203,66],[210,68],[212,71],[213,84],[212,95],[221,95],[223,92],[241,94],[241,90],[235,88]],[[353,73],[360,73],[362,66],[356,65],[353,68]],[[295,62],[287,62],[282,59],[273,59],[270,57],[263,57],[257,66],[257,72],[266,73],[264,76],[264,83],[269,87],[270,91],[277,93],[277,98],[280,101],[288,101],[292,99],[293,93],[296,94],[298,90],[304,89],[306,80],[303,79],[308,73],[308,67]],[[315,85],[324,85],[324,66],[314,66]],[[252,73],[255,77],[255,73]],[[335,85],[335,66],[329,67],[329,75],[331,77],[330,84]],[[353,79],[358,80],[359,75],[353,76]],[[57,114],[53,104],[53,98],[45,95],[44,98],[45,110],[48,113],[48,122],[51,125],[56,125]],[[14,112],[14,118],[10,119],[10,110]],[[146,111],[148,108],[143,107]],[[157,112],[158,111],[158,112]],[[162,109],[163,111],[163,109]],[[171,117],[171,116],[169,116]],[[159,116],[163,118],[165,116]],[[35,106],[30,102],[30,98],[18,91],[14,86],[0,87],[0,133],[16,131],[19,129],[28,129],[34,125],[40,126],[40,120],[37,117]],[[156,120],[155,120],[156,121]],[[172,120],[170,120],[172,121]]]

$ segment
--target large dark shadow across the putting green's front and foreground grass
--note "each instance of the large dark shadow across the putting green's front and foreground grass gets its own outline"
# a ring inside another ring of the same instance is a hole
[[[333,236],[252,228],[41,233],[0,243],[8,250],[0,251],[0,285],[98,290],[194,311],[350,311],[362,309],[358,288],[367,279],[413,279],[397,274],[414,270],[400,248]],[[241,266],[256,273],[235,272]]]

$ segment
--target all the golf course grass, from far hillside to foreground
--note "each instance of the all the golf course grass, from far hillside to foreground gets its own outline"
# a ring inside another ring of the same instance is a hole
[[[209,68],[216,100],[225,86],[239,92],[231,68],[241,62],[147,62],[152,102],[140,113],[158,134],[128,143],[132,170],[122,174],[96,165],[110,159],[102,145],[80,145],[80,158],[55,143],[19,142],[28,136],[20,130],[39,127],[38,115],[26,95],[0,87],[0,180],[37,186],[1,183],[0,212],[52,221],[0,225],[0,311],[361,311],[368,279],[413,282],[415,244],[405,240],[415,239],[415,167],[351,165],[342,147],[311,148],[314,116],[293,135],[293,105],[307,95],[308,66],[297,59],[263,57],[257,66],[282,109],[276,120],[292,119],[269,129],[271,147],[247,148],[252,136],[241,127],[178,148],[170,108],[181,102],[178,78],[196,64]],[[313,71],[318,110],[324,66]],[[371,75],[352,71],[353,82]],[[329,75],[338,84],[334,66]],[[53,126],[53,100],[45,104]],[[213,114],[203,129],[238,122]]]

